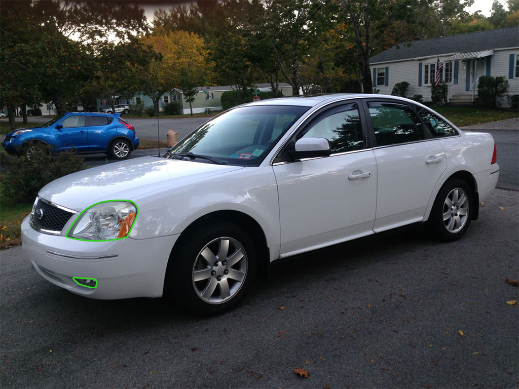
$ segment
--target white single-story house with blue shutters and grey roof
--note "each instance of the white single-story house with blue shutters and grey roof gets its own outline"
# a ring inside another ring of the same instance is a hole
[[[370,58],[373,86],[391,94],[397,82],[409,82],[407,96],[431,101],[436,63],[443,63],[441,81],[448,84],[451,103],[471,103],[481,76],[505,77],[508,94],[519,94],[519,26],[415,40]],[[502,104],[507,104],[503,100]]]

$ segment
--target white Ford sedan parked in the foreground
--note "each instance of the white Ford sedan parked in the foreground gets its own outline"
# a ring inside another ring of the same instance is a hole
[[[419,222],[459,239],[498,175],[489,134],[411,100],[265,100],[216,116],[162,157],[46,185],[23,248],[78,295],[168,295],[214,314],[280,258]]]

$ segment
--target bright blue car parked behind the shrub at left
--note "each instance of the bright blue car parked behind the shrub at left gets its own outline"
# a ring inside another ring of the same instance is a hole
[[[81,154],[106,152],[115,159],[126,159],[139,147],[135,128],[120,114],[67,113],[42,127],[9,132],[2,146],[12,155],[31,147],[45,146],[52,154],[74,148]]]

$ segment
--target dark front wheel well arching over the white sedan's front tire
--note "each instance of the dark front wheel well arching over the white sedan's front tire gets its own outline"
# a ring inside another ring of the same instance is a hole
[[[196,231],[197,227],[200,224],[206,223],[207,220],[211,219],[232,221],[233,223],[242,226],[245,230],[249,232],[250,237],[254,241],[254,244],[256,245],[257,249],[256,276],[265,279],[268,276],[268,268],[270,263],[270,253],[265,232],[263,231],[263,228],[260,226],[260,224],[252,216],[235,210],[213,211],[203,216],[200,216],[199,218],[192,221],[192,223],[190,223],[182,231],[179,239],[176,240],[175,244],[173,245],[173,248],[171,249],[166,274],[168,274],[168,270],[170,268],[170,261],[173,258],[175,258],[176,253],[182,246],[183,242],[189,239],[189,236]],[[169,278],[170,277],[166,276],[164,280],[164,294],[166,294],[166,289],[168,288]]]

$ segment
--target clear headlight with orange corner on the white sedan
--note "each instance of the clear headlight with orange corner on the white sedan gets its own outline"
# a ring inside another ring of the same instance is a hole
[[[139,209],[130,200],[109,200],[89,206],[76,218],[67,238],[106,241],[124,239],[130,233]]]

